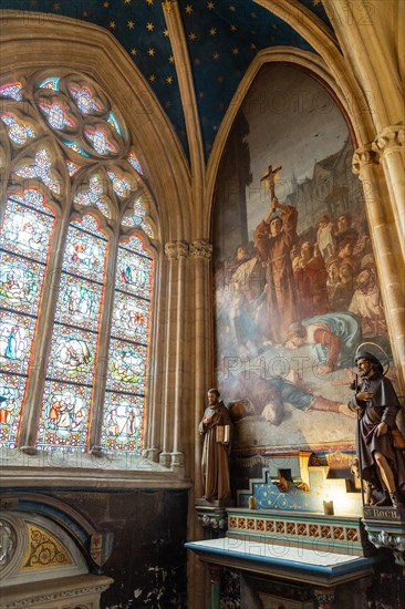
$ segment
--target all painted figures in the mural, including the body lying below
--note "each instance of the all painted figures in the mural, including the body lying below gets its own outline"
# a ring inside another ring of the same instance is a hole
[[[273,198],[253,242],[240,245],[217,269],[217,376],[233,421],[259,415],[279,425],[287,403],[351,414],[330,383],[311,390],[292,369],[284,375],[246,374],[241,362],[263,354],[288,358],[289,350],[311,345],[318,379],[330,380],[336,370],[353,367],[362,341],[385,344],[374,256],[359,223],[347,213],[322,216],[313,239],[300,238],[297,208]],[[239,368],[225,364],[232,359]],[[320,395],[324,391],[326,396]]]

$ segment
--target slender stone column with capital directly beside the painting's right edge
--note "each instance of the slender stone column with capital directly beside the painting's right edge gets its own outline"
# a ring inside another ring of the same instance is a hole
[[[398,244],[395,213],[372,144],[353,155],[353,172],[363,184],[368,228],[384,302],[388,333],[402,391],[405,389],[404,258]]]

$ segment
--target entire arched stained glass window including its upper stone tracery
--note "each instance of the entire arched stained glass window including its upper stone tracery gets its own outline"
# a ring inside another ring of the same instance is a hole
[[[18,148],[0,233],[0,446],[34,435],[40,450],[79,452],[92,437],[139,454],[153,234],[132,197],[148,188],[120,112],[87,80],[0,83],[0,128]]]

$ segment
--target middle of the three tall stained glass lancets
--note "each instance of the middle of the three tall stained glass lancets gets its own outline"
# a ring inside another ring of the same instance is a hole
[[[86,448],[107,244],[85,216],[70,226],[38,446]]]

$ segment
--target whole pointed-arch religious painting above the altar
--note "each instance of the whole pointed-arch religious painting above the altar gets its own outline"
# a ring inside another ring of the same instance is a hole
[[[236,447],[352,445],[355,351],[390,364],[353,152],[320,82],[260,70],[215,194],[216,373]]]

